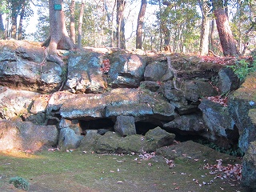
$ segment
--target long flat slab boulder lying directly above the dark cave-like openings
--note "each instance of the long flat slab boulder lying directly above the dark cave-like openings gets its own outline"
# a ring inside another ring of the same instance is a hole
[[[120,115],[159,120],[174,119],[175,107],[158,94],[118,88],[104,94],[78,94],[60,109],[62,118],[91,120]]]

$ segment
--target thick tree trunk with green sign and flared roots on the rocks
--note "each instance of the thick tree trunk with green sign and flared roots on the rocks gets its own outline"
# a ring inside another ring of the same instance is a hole
[[[63,10],[54,10],[54,4],[61,5],[63,9],[63,0],[49,0],[50,37],[42,46],[48,46],[46,58],[48,61],[57,62],[63,66],[64,62],[58,57],[57,49],[72,50],[75,46],[66,30],[64,12]]]

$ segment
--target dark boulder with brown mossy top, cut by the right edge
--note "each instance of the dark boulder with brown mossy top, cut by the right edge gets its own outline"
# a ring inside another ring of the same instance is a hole
[[[250,74],[242,86],[230,94],[228,110],[239,131],[238,145],[243,152],[248,149],[249,143],[255,141],[256,124],[250,118],[250,110],[256,109],[256,74]],[[254,117],[254,115],[251,115]]]

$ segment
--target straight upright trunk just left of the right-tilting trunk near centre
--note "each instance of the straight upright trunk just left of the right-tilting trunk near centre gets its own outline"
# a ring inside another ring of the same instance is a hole
[[[121,49],[126,49],[125,19],[123,18],[125,6],[126,1],[117,0],[117,46]]]

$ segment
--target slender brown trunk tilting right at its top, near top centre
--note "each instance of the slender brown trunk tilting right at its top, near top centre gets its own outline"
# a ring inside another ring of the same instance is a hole
[[[142,27],[144,23],[145,12],[146,12],[146,0],[142,0],[141,9],[139,10],[139,14],[138,14],[136,49],[142,49]]]

